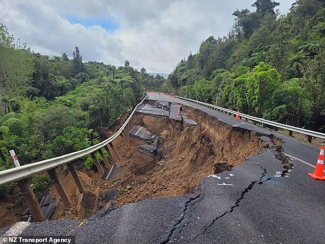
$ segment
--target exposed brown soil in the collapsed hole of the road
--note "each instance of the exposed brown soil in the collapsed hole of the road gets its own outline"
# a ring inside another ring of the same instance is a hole
[[[198,109],[186,109],[188,118],[194,120],[197,126],[166,117],[135,114],[132,125],[143,126],[159,136],[158,152],[151,155],[136,150],[136,147],[147,143],[138,138],[130,137],[131,148],[121,137],[114,140],[113,144],[122,158],[119,160],[115,157],[115,160],[124,167],[124,174],[114,182],[101,179],[101,175],[94,170],[76,165],[87,189],[86,193],[80,194],[69,171],[65,167],[60,169],[72,205],[66,207],[60,202],[52,219],[84,219],[111,206],[197,192],[202,178],[231,170],[233,166],[246,161],[245,158],[270,146],[261,141],[260,135],[254,131],[232,127]],[[103,129],[103,137],[109,137],[117,131],[127,115],[111,131]],[[201,131],[204,129],[206,134],[202,136]],[[274,140],[273,143],[276,147],[281,141]],[[59,198],[54,187],[50,191]],[[2,227],[15,221],[17,218],[10,223],[3,223]]]

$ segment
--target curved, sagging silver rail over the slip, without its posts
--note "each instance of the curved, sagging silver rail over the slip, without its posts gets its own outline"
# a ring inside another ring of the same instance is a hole
[[[45,172],[47,170],[56,168],[60,165],[67,164],[69,162],[72,162],[76,159],[83,158],[87,154],[96,152],[97,150],[103,148],[104,146],[106,146],[107,144],[112,142],[114,139],[116,139],[121,134],[121,132],[124,130],[124,128],[127,126],[127,124],[132,119],[132,116],[135,113],[135,110],[137,109],[137,107],[140,106],[146,100],[146,98],[147,98],[147,96],[145,96],[144,99],[136,105],[136,107],[133,109],[133,112],[131,113],[129,118],[126,120],[126,122],[110,138],[108,138],[105,141],[100,142],[94,146],[88,147],[88,148],[80,150],[80,151],[71,152],[69,154],[65,154],[63,156],[59,156],[59,157],[56,157],[53,159],[47,159],[47,160],[23,165],[20,167],[0,171],[0,186],[2,186],[4,184],[16,182],[16,181],[19,181],[22,179],[26,179],[34,174]]]

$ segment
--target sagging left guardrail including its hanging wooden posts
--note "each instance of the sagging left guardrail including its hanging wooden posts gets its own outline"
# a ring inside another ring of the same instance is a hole
[[[135,106],[135,108],[133,109],[133,111],[130,114],[130,116],[128,117],[128,119],[118,129],[118,131],[113,136],[106,139],[105,141],[100,142],[96,145],[93,145],[91,147],[88,147],[88,148],[80,150],[80,151],[65,154],[63,156],[59,156],[56,158],[47,159],[47,160],[43,160],[43,161],[31,163],[31,164],[19,166],[16,168],[11,168],[11,169],[0,171],[0,186],[2,186],[4,184],[8,184],[8,183],[17,182],[19,188],[21,189],[21,191],[23,193],[25,202],[26,202],[34,220],[37,222],[46,220],[42,210],[40,209],[40,206],[37,202],[36,196],[35,196],[33,190],[31,189],[30,183],[28,182],[27,178],[29,178],[30,176],[32,176],[34,174],[47,171],[52,182],[54,183],[56,190],[58,191],[63,203],[65,205],[69,206],[71,204],[71,201],[65,191],[64,186],[60,182],[60,179],[59,179],[58,174],[55,169],[59,166],[64,165],[64,164],[68,164],[68,168],[69,168],[69,170],[72,174],[72,177],[78,187],[79,192],[84,193],[85,188],[78,177],[78,174],[74,168],[72,161],[83,158],[83,157],[87,156],[88,154],[90,154],[90,156],[92,157],[92,159],[94,161],[95,166],[98,169],[98,172],[101,174],[104,174],[103,167],[100,165],[100,163],[98,162],[98,160],[95,156],[95,153],[99,152],[100,157],[103,159],[103,162],[104,162],[106,168],[110,169],[112,166],[109,164],[108,160],[106,159],[106,157],[101,149],[105,148],[112,163],[115,163],[116,160],[114,159],[111,151],[113,151],[114,154],[119,159],[121,159],[112,142],[117,137],[121,136],[123,138],[123,140],[125,141],[125,143],[127,144],[127,146],[130,148],[128,130],[129,130],[130,124],[132,123],[132,117],[133,117],[136,109],[138,108],[138,106],[143,104],[143,102],[146,99],[147,99],[147,95],[143,98],[143,100],[141,100],[140,103],[138,103]],[[125,132],[124,129],[127,129],[127,132]],[[111,149],[108,146],[110,146]]]

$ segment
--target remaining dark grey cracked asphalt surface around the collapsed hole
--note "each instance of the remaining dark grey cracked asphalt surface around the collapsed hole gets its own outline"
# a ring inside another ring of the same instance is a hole
[[[293,156],[283,168],[279,152],[264,149],[245,163],[201,180],[200,191],[161,197],[109,209],[80,221],[17,223],[0,230],[7,235],[73,235],[76,243],[324,243],[325,181],[307,174],[319,149],[188,101],[150,93],[159,101],[178,101],[232,126],[271,135]],[[177,102],[176,101],[176,102]]]

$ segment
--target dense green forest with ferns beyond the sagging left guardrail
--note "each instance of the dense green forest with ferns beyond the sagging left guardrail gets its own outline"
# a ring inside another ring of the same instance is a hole
[[[35,53],[0,24],[0,170],[14,167],[10,149],[27,164],[97,143],[101,130],[165,81],[128,60],[83,62],[78,47],[72,57]]]

